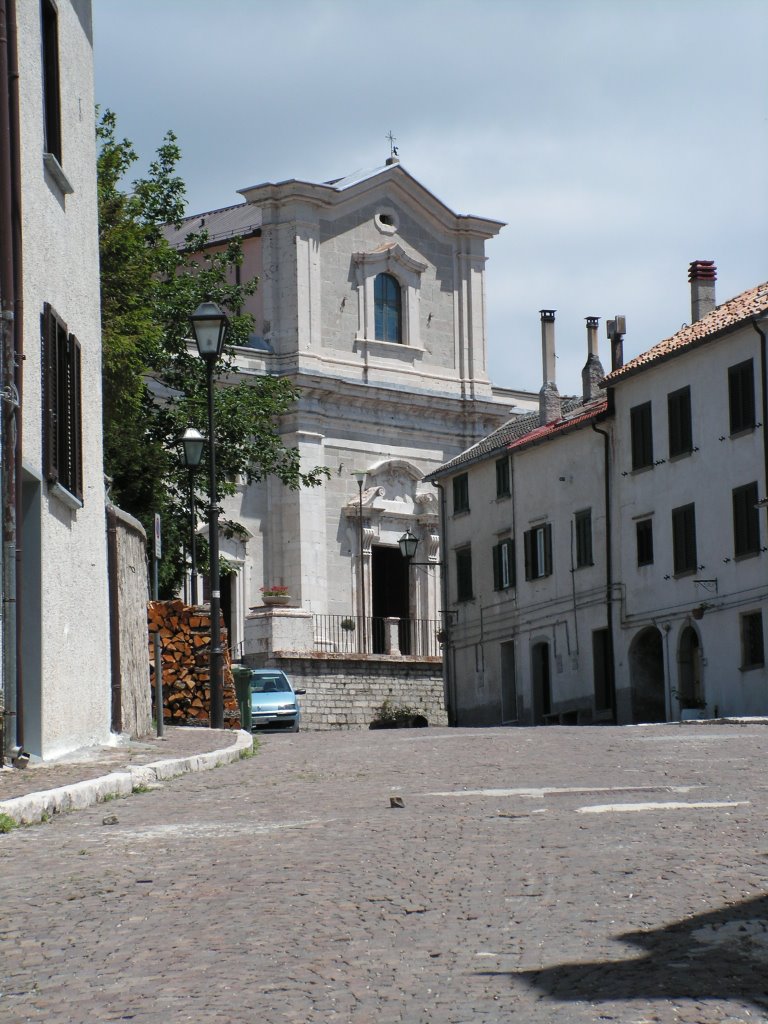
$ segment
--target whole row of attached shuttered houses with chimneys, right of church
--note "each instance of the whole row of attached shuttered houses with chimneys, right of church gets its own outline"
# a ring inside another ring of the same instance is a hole
[[[609,322],[602,398],[596,318],[583,398],[561,403],[543,310],[540,416],[429,477],[453,493],[459,724],[768,713],[768,285],[715,306],[714,266],[690,276],[691,326],[626,365]]]

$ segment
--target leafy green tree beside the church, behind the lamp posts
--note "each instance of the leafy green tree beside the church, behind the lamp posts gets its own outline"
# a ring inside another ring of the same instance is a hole
[[[96,128],[98,152],[101,331],[103,346],[104,470],[113,502],[152,532],[163,517],[161,591],[174,593],[183,575],[188,532],[186,471],[178,441],[186,427],[207,433],[206,370],[189,351],[189,314],[200,302],[217,302],[229,315],[228,341],[244,343],[253,330],[241,310],[256,290],[254,279],[237,282],[240,240],[209,245],[205,230],[187,236],[183,250],[171,247],[166,224],[180,226],[185,188],[176,173],[180,150],[168,132],[145,177],[129,189],[123,181],[136,162],[128,139],[118,139],[117,118],[105,111]],[[280,434],[281,418],[298,389],[286,378],[243,379],[231,352],[216,367],[216,500],[234,493],[237,481],[276,476],[286,486],[316,486],[328,470],[302,471],[298,449]],[[197,512],[205,517],[208,481],[196,477]],[[242,530],[237,522],[226,528]],[[201,565],[205,566],[202,545]]]

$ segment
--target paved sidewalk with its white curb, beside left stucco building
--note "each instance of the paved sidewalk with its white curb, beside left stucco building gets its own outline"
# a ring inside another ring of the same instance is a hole
[[[252,737],[231,729],[166,726],[165,735],[89,746],[27,768],[0,768],[0,814],[31,824],[137,786],[237,761]]]

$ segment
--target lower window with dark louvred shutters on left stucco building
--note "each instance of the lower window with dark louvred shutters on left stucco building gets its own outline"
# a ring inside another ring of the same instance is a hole
[[[41,319],[45,474],[82,503],[80,343],[47,302]]]

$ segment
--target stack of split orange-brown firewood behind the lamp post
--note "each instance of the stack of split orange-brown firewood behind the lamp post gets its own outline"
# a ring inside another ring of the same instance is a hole
[[[163,666],[163,721],[169,725],[210,725],[211,614],[208,605],[183,601],[150,601],[150,674],[155,700],[155,641],[160,634]],[[224,725],[240,728],[240,712],[232,682],[227,635],[221,623],[224,649],[221,676]]]

